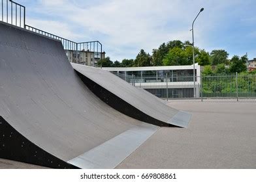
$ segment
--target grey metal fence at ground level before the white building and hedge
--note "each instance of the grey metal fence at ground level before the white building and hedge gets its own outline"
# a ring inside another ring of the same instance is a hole
[[[256,98],[256,74],[124,75],[114,73],[137,88],[163,99]]]

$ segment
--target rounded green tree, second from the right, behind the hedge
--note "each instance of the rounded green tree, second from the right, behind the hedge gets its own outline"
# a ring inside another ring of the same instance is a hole
[[[219,49],[219,50],[213,50],[210,53],[210,59],[212,62],[212,65],[217,65],[217,64],[228,64],[228,57],[229,57],[229,53],[227,53],[227,51],[223,50],[223,49]]]

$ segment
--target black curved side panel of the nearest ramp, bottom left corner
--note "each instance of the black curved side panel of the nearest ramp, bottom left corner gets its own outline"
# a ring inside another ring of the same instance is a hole
[[[48,153],[16,131],[0,116],[0,158],[49,168],[78,168]]]

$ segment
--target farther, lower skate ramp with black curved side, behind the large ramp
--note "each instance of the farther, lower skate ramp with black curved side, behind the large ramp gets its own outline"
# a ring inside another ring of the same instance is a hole
[[[159,126],[187,127],[191,114],[169,107],[106,70],[74,63],[72,66],[93,93],[127,116]]]

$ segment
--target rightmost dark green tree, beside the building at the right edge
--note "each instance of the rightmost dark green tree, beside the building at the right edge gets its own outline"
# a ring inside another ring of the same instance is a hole
[[[234,55],[231,59],[231,66],[229,72],[231,73],[241,73],[247,71],[246,62],[248,61],[247,55],[242,56],[241,58]]]

